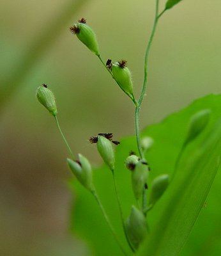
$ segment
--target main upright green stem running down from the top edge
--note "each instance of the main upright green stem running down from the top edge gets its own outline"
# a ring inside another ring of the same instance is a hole
[[[149,51],[151,49],[153,38],[155,36],[157,22],[160,19],[160,17],[163,15],[163,13],[165,12],[165,10],[164,10],[162,13],[160,13],[160,15],[158,15],[158,8],[159,8],[159,0],[156,0],[155,20],[153,22],[153,28],[152,28],[152,31],[151,31],[151,35],[149,37],[148,45],[146,47],[146,53],[145,53],[145,59],[144,59],[144,82],[142,84],[141,96],[140,96],[140,98],[137,102],[137,105],[135,107],[135,134],[136,134],[136,140],[137,140],[137,148],[139,150],[139,154],[140,154],[142,159],[145,159],[145,156],[144,156],[144,152],[143,152],[142,147],[141,147],[141,132],[140,132],[140,128],[139,128],[139,115],[140,115],[140,111],[141,111],[141,104],[142,104],[142,101],[144,99],[144,95],[146,93],[146,89],[147,89],[147,86],[148,86]],[[146,205],[147,203],[146,203],[145,198],[146,198],[146,189],[144,188],[143,198],[142,198],[142,209],[143,209],[143,211],[147,207],[147,205]]]

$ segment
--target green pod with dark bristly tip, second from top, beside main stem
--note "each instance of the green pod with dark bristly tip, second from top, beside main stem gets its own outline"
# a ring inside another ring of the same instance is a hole
[[[126,61],[121,60],[112,64],[112,74],[121,89],[133,95],[133,83],[130,70],[126,67]]]

